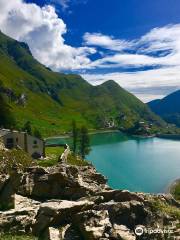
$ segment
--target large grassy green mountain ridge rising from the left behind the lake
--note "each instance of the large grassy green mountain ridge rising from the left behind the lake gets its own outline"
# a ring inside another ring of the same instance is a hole
[[[137,121],[164,123],[148,106],[110,80],[92,86],[79,75],[51,71],[32,56],[29,47],[0,32],[0,81],[21,128],[28,120],[45,135],[70,130],[72,119],[89,129]]]

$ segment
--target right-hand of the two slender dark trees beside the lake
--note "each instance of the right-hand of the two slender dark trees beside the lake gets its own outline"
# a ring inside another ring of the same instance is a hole
[[[90,150],[91,148],[88,129],[85,126],[82,126],[79,136],[79,153],[82,159],[85,159],[85,156],[89,154]]]

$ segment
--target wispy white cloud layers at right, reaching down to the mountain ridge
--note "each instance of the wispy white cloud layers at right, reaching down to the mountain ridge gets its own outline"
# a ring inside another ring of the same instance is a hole
[[[89,69],[100,68],[106,72],[117,68],[113,73],[83,75],[91,83],[113,79],[145,102],[162,98],[180,88],[180,24],[152,29],[139,39],[125,41],[130,43],[127,47],[117,44],[124,40],[102,34],[99,37],[85,34],[84,39],[88,46],[104,45],[104,48],[115,51],[89,64]],[[140,67],[145,69],[128,71],[129,68]],[[120,72],[118,68],[126,72]]]

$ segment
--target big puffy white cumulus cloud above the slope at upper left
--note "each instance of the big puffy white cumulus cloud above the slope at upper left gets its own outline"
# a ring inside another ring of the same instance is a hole
[[[65,44],[66,24],[50,5],[41,8],[22,0],[0,0],[0,29],[27,42],[34,57],[55,70],[84,68],[91,62],[88,55],[96,52]]]

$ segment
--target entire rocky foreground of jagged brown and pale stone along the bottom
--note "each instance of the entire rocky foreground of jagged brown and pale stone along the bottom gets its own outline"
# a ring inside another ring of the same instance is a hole
[[[43,240],[180,239],[180,203],[171,195],[106,183],[92,166],[66,164],[0,175],[0,232]]]

